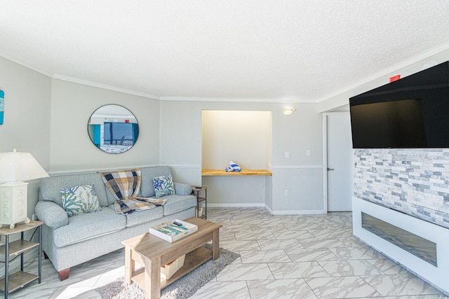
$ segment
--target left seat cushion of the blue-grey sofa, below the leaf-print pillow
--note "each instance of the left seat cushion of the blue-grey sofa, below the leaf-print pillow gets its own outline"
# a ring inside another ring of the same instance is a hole
[[[67,246],[122,230],[125,225],[126,217],[109,208],[96,213],[79,214],[69,217],[68,225],[53,231],[53,242],[56,247]]]

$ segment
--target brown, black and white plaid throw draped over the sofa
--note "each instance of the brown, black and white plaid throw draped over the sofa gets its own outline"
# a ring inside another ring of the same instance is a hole
[[[133,211],[152,209],[156,204],[143,198],[137,199],[140,190],[140,169],[101,172],[106,187],[116,198],[114,209],[117,214],[129,214]]]

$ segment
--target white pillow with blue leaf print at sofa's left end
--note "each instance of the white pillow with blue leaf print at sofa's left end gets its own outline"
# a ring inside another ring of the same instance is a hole
[[[69,217],[76,214],[100,211],[100,203],[93,185],[61,188],[62,207]]]

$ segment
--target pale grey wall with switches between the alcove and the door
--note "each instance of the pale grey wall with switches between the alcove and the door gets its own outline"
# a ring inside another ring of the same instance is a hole
[[[274,114],[272,210],[275,214],[323,213],[322,115],[316,112],[316,104],[295,107],[291,116]],[[284,195],[285,190],[290,195]]]

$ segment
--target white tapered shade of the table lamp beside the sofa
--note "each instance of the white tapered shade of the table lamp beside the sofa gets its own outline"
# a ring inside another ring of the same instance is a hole
[[[0,183],[32,181],[47,176],[31,153],[0,153]]]

